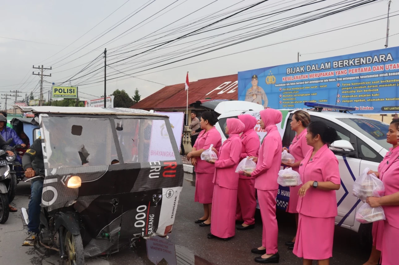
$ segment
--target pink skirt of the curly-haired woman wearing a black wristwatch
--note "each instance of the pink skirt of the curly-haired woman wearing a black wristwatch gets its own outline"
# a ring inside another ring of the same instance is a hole
[[[332,257],[335,218],[318,218],[299,214],[298,231],[293,253],[304,259]]]

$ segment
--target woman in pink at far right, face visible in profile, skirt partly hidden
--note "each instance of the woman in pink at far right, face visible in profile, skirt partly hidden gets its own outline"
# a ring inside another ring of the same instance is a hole
[[[392,164],[399,155],[398,141],[396,134],[398,132],[397,127],[399,125],[399,119],[395,119],[391,122],[387,133],[387,143],[392,144],[392,148],[385,155],[384,159],[378,165],[377,172],[370,170],[369,173],[374,173],[377,177],[380,177],[380,172],[385,171],[385,167]],[[382,249],[382,236],[384,232],[384,221],[378,221],[373,223],[373,230],[371,234],[373,235],[373,248],[371,249],[371,254],[369,260],[363,265],[376,265],[379,264],[379,259],[381,257]]]

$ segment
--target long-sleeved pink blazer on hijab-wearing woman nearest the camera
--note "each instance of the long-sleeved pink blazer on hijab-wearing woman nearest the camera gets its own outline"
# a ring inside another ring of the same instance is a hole
[[[277,177],[281,167],[282,141],[277,126],[267,132],[259,149],[259,158],[252,176],[256,178],[255,188],[262,191],[279,189]]]

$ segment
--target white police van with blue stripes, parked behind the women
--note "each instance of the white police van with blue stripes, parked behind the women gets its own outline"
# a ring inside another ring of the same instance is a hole
[[[386,142],[386,133],[389,125],[380,121],[347,113],[350,108],[338,107],[326,104],[309,104],[309,114],[312,121],[323,121],[328,126],[336,129],[342,140],[334,142],[330,149],[334,152],[339,161],[341,188],[336,192],[338,216],[336,225],[361,232],[369,237],[371,224],[360,224],[355,221],[356,210],[362,202],[352,195],[352,185],[356,178],[365,168],[377,170],[383,156],[391,147]],[[305,106],[304,106],[305,107]],[[322,109],[338,109],[338,111],[325,111]],[[222,136],[222,141],[226,140],[225,134],[226,120],[237,118],[242,114],[251,114],[259,121],[259,111],[263,106],[245,101],[223,101],[219,103],[214,111],[219,113],[219,123],[217,130]],[[290,122],[295,110],[280,110],[283,115],[282,123],[277,125],[282,137],[282,145],[289,146],[295,132],[290,128]],[[259,126],[255,127],[261,140],[266,132]],[[281,187],[277,195],[277,207],[286,209],[288,205],[290,191],[288,187]],[[369,238],[366,238],[368,241]]]

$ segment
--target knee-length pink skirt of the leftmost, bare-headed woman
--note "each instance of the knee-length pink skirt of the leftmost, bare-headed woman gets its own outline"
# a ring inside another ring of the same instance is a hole
[[[213,173],[196,173],[196,193],[194,194],[194,201],[208,204],[212,203],[213,197]]]

